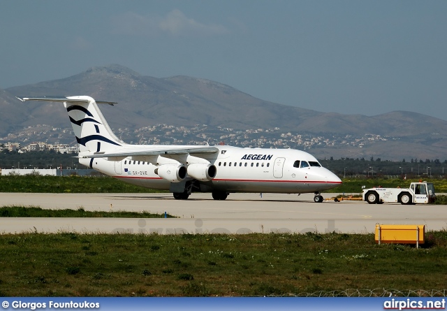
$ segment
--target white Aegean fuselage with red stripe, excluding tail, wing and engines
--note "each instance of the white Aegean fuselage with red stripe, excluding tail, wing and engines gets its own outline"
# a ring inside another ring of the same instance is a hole
[[[321,167],[315,157],[300,150],[215,147],[219,152],[200,156],[217,168],[213,180],[200,182],[201,191],[300,194],[331,189],[342,183],[337,175]],[[163,157],[177,159],[175,155]],[[297,161],[299,167],[295,167]],[[80,159],[80,163],[89,166],[90,160]],[[145,157],[127,157],[121,161],[96,158],[91,167],[143,187],[172,190],[175,184],[154,173],[157,166]]]

